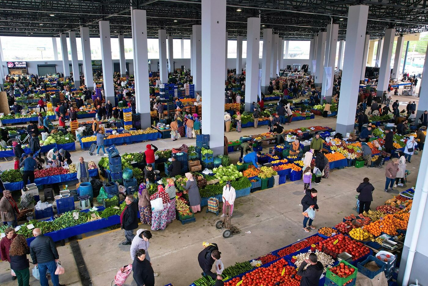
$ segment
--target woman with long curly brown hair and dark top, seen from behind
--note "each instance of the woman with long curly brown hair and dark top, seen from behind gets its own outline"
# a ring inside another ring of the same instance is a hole
[[[17,235],[10,244],[9,263],[10,269],[15,272],[18,279],[18,286],[29,286],[30,283],[30,263],[27,254],[30,254],[27,240],[24,235]]]

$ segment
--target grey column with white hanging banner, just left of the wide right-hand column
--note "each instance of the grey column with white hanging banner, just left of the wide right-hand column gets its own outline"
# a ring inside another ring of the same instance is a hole
[[[324,67],[331,68],[331,83],[327,89],[327,74],[323,73],[323,84],[321,95],[324,95],[327,102],[331,102],[333,93],[333,79],[334,79],[334,68],[336,63],[336,51],[337,51],[337,34],[339,32],[339,24],[328,24],[327,25],[327,42],[324,57]]]

